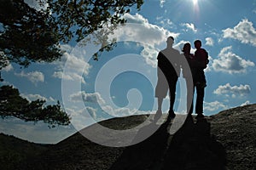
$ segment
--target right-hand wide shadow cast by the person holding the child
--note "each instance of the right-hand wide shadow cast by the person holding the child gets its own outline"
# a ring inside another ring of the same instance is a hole
[[[224,170],[224,146],[211,135],[211,124],[192,116],[172,137],[162,170]]]

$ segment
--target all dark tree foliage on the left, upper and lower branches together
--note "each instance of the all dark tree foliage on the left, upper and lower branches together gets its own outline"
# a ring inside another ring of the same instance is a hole
[[[108,34],[125,23],[122,15],[143,0],[37,0],[41,9],[30,7],[24,0],[0,0],[0,82],[1,70],[16,63],[27,67],[32,62],[60,59],[61,42],[75,38],[78,42],[93,35],[102,44],[99,54],[111,50],[115,39]],[[47,4],[47,8],[45,6]],[[103,28],[104,27],[104,28]],[[94,32],[94,33],[93,33]],[[87,39],[86,41],[90,41]],[[98,53],[94,56],[98,58]],[[15,116],[26,122],[44,121],[55,126],[69,124],[69,117],[60,104],[44,107],[45,101],[27,101],[18,89],[4,86],[0,94],[0,116]]]

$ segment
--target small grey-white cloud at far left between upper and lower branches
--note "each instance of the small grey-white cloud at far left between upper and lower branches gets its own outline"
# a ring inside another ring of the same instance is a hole
[[[29,81],[36,84],[37,82],[44,82],[44,74],[40,71],[32,71],[25,73],[24,71],[21,71],[19,73],[15,73],[18,77],[26,77]]]

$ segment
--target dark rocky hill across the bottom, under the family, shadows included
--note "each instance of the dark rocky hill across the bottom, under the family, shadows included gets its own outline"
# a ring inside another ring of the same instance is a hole
[[[113,118],[102,125],[131,128],[146,115]],[[93,125],[92,125],[93,126]],[[127,147],[95,144],[80,133],[58,144],[33,144],[0,134],[0,169],[256,169],[256,105],[187,117],[170,135],[166,122],[150,138]]]

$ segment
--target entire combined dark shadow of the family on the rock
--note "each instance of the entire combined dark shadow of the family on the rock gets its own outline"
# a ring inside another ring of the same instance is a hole
[[[154,122],[138,132],[157,126]],[[148,139],[126,147],[109,170],[224,170],[226,154],[222,144],[211,135],[211,124],[187,116],[177,133],[169,133],[167,119]]]

